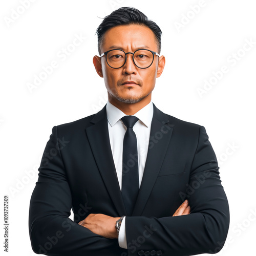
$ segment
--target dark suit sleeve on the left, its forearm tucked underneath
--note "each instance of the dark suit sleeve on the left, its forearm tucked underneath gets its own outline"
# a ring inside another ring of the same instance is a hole
[[[121,255],[117,240],[106,239],[69,219],[72,196],[54,126],[39,167],[29,211],[33,251],[54,256]],[[120,252],[120,253],[119,253]]]

